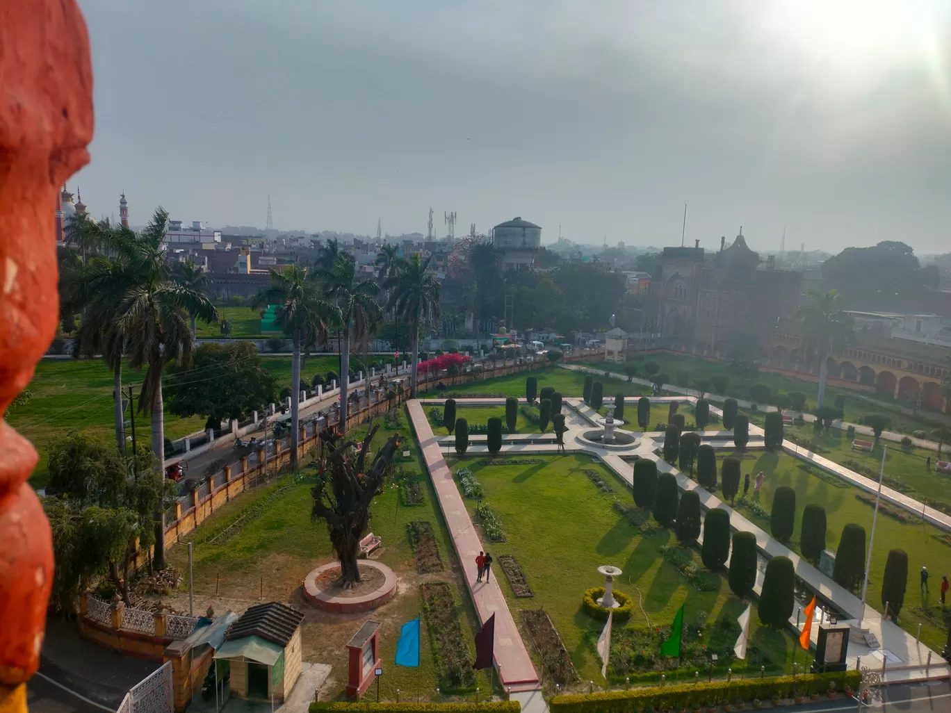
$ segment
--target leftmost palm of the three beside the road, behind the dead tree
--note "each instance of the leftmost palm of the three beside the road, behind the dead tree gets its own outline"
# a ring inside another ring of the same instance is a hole
[[[271,286],[251,301],[252,309],[279,305],[274,322],[294,341],[291,362],[291,467],[298,467],[301,401],[301,345],[325,342],[328,325],[339,320],[339,312],[329,300],[323,299],[307,268],[290,265],[283,272],[271,270]]]

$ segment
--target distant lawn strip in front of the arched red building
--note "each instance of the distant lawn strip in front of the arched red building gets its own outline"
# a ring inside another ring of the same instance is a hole
[[[703,357],[690,357],[686,355],[666,355],[650,354],[647,358],[636,357],[633,363],[638,367],[640,373],[638,378],[648,378],[643,373],[643,364],[645,361],[656,361],[660,365],[660,370],[670,376],[668,386],[677,385],[677,372],[685,371],[690,375],[689,388],[695,389],[695,378],[710,377],[715,374],[726,374],[729,377],[727,384],[727,396],[751,400],[749,387],[753,384],[767,384],[772,389],[773,394],[786,394],[790,391],[802,392],[806,395],[806,409],[812,411],[816,406],[816,395],[819,391],[819,384],[812,381],[794,379],[789,376],[756,373],[750,376],[736,376],[729,373],[727,364],[719,361],[712,361]],[[592,368],[602,369],[604,364],[591,364]],[[623,370],[622,365],[612,365],[611,372],[620,373]],[[837,395],[845,396],[845,420],[850,423],[859,423],[865,414],[887,414],[892,419],[890,430],[910,434],[913,431],[930,431],[936,425],[936,419],[940,414],[922,412],[921,415],[904,414],[896,410],[897,407],[907,408],[909,404],[898,401],[892,395],[874,394],[869,392],[860,392],[850,389],[842,389],[837,386],[826,386],[825,402],[829,405],[835,402]]]

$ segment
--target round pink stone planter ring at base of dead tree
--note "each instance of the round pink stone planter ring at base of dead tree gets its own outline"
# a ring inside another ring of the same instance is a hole
[[[340,589],[340,564],[330,562],[312,570],[303,580],[303,594],[314,607],[337,613],[369,611],[393,598],[397,575],[391,568],[374,560],[359,561],[357,588]]]

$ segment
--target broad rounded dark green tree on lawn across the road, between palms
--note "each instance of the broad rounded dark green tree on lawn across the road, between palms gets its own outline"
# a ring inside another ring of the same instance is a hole
[[[216,423],[262,411],[277,395],[277,379],[250,341],[202,344],[189,368],[173,365],[165,379],[170,413],[183,418],[198,414]]]

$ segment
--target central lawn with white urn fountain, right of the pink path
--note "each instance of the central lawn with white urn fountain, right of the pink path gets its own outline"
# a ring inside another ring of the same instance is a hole
[[[593,619],[581,607],[585,589],[604,585],[604,577],[596,571],[601,565],[624,570],[615,587],[635,602],[640,589],[650,626],[670,626],[683,604],[685,622],[700,616],[712,623],[724,615],[725,607],[734,618],[739,616],[743,607],[729,591],[726,578],[716,578],[716,591],[697,590],[660,555],[662,545],[675,543],[670,531],[641,535],[612,508],[615,498],[630,504],[631,493],[611,471],[587,455],[543,460],[534,465],[483,466],[479,458],[470,457],[455,460],[450,467],[454,472],[462,466],[472,469],[485,492],[484,502],[491,505],[501,522],[506,542],[493,544],[483,533],[482,543],[495,558],[493,576],[501,583],[519,626],[517,609],[544,607],[582,681],[603,682],[595,644],[604,622]],[[585,475],[585,469],[600,475],[613,492],[600,491]],[[467,505],[472,512],[476,501],[467,500]],[[473,519],[477,521],[475,515]],[[514,597],[499,566],[502,554],[517,559],[534,589],[534,598]],[[615,624],[615,630],[621,626],[647,626],[647,622],[635,605],[629,624]],[[523,637],[529,645],[527,634]],[[791,661],[793,642],[786,633],[756,626],[752,641],[753,646],[767,653],[773,665],[780,667]],[[687,675],[692,680],[692,670]]]

